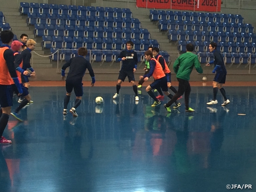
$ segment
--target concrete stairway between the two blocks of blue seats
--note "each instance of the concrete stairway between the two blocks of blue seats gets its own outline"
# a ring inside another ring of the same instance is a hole
[[[117,5],[118,3],[118,5]],[[156,39],[160,44],[160,49],[167,51],[170,55],[172,63],[178,58],[179,52],[175,43],[170,43],[167,34],[165,32],[159,32],[156,22],[151,22],[149,19],[149,9],[138,8],[136,1],[122,2],[116,0],[96,0],[96,3],[92,3],[92,6],[104,6],[104,7],[126,7],[132,11],[132,16],[138,18],[141,22],[142,28],[148,29],[150,37]]]

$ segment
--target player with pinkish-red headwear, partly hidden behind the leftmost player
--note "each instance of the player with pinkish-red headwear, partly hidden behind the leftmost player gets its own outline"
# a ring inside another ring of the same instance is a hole
[[[28,71],[25,71],[22,69],[23,61],[22,61],[22,56],[20,54],[20,52],[22,50],[22,43],[19,41],[13,41],[11,48],[12,48],[12,51],[14,52],[14,66],[16,68],[16,74],[21,83],[22,82],[22,80],[21,80],[22,74],[25,76],[30,76],[30,73]],[[31,75],[33,75],[33,74],[31,74]],[[23,97],[24,100],[22,100],[20,105],[16,108],[16,110],[14,112],[11,113],[11,115],[14,116],[16,119],[18,119],[19,121],[23,122],[23,120],[21,119],[21,117],[18,113],[30,101],[31,96],[28,93],[28,88],[24,87],[22,83],[20,84],[20,86],[22,87],[22,91],[23,91],[23,93],[20,97]],[[12,81],[12,89],[13,89],[13,92],[15,92],[17,95],[19,94],[18,89],[13,81]]]

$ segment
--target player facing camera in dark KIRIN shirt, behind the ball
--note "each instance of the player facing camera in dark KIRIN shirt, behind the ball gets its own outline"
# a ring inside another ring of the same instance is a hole
[[[126,42],[126,50],[123,50],[117,58],[117,61],[122,61],[122,67],[119,72],[118,81],[116,84],[116,94],[113,98],[119,97],[119,91],[121,88],[122,82],[128,77],[128,81],[132,84],[133,91],[135,93],[135,101],[139,100],[138,89],[135,84],[134,73],[137,70],[138,56],[137,53],[132,50],[134,44],[132,41]]]

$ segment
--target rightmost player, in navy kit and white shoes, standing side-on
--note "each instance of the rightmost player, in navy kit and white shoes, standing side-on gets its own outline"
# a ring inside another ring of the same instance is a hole
[[[226,104],[230,103],[230,100],[228,100],[226,97],[226,91],[222,87],[222,85],[225,84],[226,82],[227,70],[224,64],[223,56],[218,50],[216,50],[216,48],[217,48],[217,44],[215,42],[211,42],[209,45],[209,51],[213,53],[214,61],[209,62],[208,64],[206,64],[206,66],[210,66],[210,64],[214,64],[214,70],[212,71],[212,73],[216,73],[216,74],[212,82],[213,100],[211,100],[206,104],[213,105],[218,103],[218,100],[216,100],[216,96],[219,89],[225,100],[224,103],[222,103],[221,105],[225,106]]]

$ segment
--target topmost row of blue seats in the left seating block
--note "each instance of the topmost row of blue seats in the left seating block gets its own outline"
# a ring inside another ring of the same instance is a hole
[[[60,15],[73,15],[73,16],[98,16],[98,17],[122,17],[132,18],[132,12],[129,8],[111,8],[94,6],[75,6],[64,4],[44,4],[40,3],[20,3],[21,14],[60,14]]]

